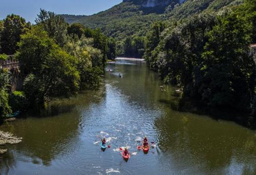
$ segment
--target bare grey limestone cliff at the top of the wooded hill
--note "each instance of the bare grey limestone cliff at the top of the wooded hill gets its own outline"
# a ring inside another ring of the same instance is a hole
[[[123,0],[123,2],[134,2],[143,7],[168,6],[173,2],[182,4],[185,1],[186,0]]]

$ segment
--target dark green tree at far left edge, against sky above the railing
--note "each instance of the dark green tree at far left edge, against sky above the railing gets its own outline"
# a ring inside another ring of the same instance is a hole
[[[17,42],[20,40],[20,35],[25,33],[29,26],[24,18],[14,14],[8,15],[4,19],[4,28],[1,34],[2,53],[14,54],[18,49]]]

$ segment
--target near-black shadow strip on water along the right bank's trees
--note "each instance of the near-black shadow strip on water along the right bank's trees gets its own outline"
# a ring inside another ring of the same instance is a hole
[[[180,98],[180,94],[173,93],[173,99],[160,99],[159,102],[167,104],[174,111],[189,112],[197,115],[207,115],[215,120],[233,121],[249,129],[256,129],[256,120],[248,113],[243,113],[231,108],[209,108],[198,101]]]

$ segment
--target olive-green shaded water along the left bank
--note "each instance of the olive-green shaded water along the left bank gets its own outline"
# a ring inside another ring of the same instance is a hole
[[[21,116],[18,122],[2,125],[1,130],[22,137],[23,141],[9,145],[11,151],[0,162],[0,174],[7,174],[9,169],[15,167],[13,154],[22,154],[24,162],[51,166],[59,155],[69,155],[78,149],[80,108],[87,108],[90,103],[99,104],[104,98],[105,86],[102,86],[94,93],[81,92],[71,98],[55,99],[50,103],[48,111],[40,115],[30,112]]]

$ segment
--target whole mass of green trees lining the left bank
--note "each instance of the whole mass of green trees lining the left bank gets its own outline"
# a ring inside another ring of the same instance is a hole
[[[23,91],[10,91],[10,74],[0,72],[0,119],[16,111],[47,108],[53,98],[97,88],[106,61],[116,57],[113,38],[41,10],[35,25],[8,15],[0,21],[0,59],[14,55],[24,78]]]

